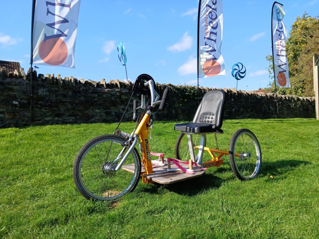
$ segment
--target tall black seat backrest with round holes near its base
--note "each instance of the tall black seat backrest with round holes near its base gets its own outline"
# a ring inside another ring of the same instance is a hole
[[[193,123],[223,125],[225,92],[221,90],[208,91],[198,105]]]

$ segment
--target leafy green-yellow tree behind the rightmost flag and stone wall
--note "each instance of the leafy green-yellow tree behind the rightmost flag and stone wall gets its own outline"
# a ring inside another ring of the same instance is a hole
[[[289,78],[291,88],[277,88],[280,94],[297,96],[314,96],[313,91],[313,55],[319,53],[319,19],[307,16],[297,17],[292,25],[286,43],[287,58],[289,65]],[[267,68],[270,79],[273,79],[272,56],[267,55],[269,61]],[[270,87],[274,92],[274,82]]]

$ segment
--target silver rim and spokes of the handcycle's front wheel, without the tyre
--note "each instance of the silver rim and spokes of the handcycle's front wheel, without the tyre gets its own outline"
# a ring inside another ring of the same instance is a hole
[[[115,160],[123,147],[122,141],[119,139],[103,139],[93,143],[81,156],[78,164],[79,182],[91,198],[104,201],[116,200],[129,192],[138,180],[138,158],[134,151],[131,152],[122,166],[123,168],[127,164],[134,163],[134,173],[120,169],[114,174],[108,175],[102,171],[104,163]]]

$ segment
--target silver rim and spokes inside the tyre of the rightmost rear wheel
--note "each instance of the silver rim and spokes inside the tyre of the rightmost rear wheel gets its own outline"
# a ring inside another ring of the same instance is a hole
[[[261,150],[256,137],[247,131],[241,132],[235,139],[233,152],[240,176],[246,180],[256,177],[261,166]],[[239,153],[240,157],[235,156],[235,153]]]

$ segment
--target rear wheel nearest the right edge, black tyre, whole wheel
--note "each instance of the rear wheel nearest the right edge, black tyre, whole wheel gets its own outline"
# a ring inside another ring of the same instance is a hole
[[[236,177],[250,180],[257,177],[262,163],[259,142],[249,129],[239,129],[229,145],[229,162]]]

